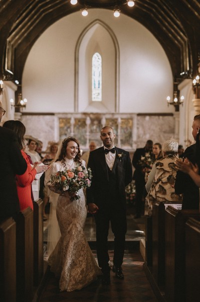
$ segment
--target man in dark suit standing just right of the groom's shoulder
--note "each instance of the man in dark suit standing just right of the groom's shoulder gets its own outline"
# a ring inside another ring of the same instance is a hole
[[[145,186],[145,168],[140,164],[141,158],[145,157],[145,154],[149,153],[150,157],[152,156],[152,140],[147,140],[143,148],[137,148],[134,152],[132,165],[135,168],[133,173],[133,180],[135,181],[135,190],[136,190],[136,214],[134,218],[140,218],[142,214],[142,205],[144,198],[144,186]]]

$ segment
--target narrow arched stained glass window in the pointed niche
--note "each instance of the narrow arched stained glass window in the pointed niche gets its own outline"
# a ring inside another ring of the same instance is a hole
[[[98,52],[92,57],[92,101],[102,101],[102,59]]]

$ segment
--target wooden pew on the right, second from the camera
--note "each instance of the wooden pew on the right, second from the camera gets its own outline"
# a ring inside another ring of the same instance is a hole
[[[165,211],[165,299],[168,302],[185,301],[185,222],[189,217],[198,218],[199,212],[171,206]]]

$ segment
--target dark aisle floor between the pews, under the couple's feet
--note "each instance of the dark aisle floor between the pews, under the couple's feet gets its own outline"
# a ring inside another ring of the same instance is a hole
[[[95,251],[93,253],[96,257]],[[112,260],[113,252],[110,251],[109,254]],[[89,286],[72,292],[60,292],[59,280],[49,273],[40,302],[156,302],[142,265],[143,259],[138,250],[126,251],[123,262],[124,280],[118,280],[111,271],[110,285],[102,285],[99,278]]]

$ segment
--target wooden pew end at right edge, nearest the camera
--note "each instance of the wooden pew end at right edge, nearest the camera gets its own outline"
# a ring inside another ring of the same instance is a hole
[[[185,225],[186,302],[200,300],[200,219],[189,218]]]

